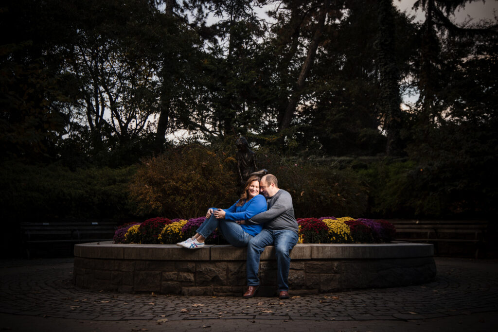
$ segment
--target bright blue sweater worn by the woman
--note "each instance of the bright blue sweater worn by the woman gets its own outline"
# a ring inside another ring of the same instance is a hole
[[[226,220],[248,220],[249,218],[257,215],[258,213],[266,211],[266,199],[263,195],[256,195],[243,206],[238,207],[235,203],[225,211]],[[259,234],[263,228],[263,224],[241,225],[246,233],[252,236]]]

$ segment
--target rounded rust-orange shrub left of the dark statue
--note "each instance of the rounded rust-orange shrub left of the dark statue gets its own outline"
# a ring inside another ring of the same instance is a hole
[[[138,215],[195,218],[237,199],[235,159],[200,145],[187,145],[143,161],[129,184]]]

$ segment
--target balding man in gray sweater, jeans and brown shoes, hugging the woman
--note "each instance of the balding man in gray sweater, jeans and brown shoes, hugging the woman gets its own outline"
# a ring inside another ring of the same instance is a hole
[[[268,210],[246,221],[248,224],[262,222],[265,224],[261,232],[251,238],[248,244],[247,279],[249,287],[243,297],[248,299],[254,296],[259,287],[257,277],[259,258],[264,247],[273,244],[277,259],[278,298],[280,300],[288,299],[289,251],[297,243],[299,231],[294,217],[292,197],[285,190],[278,188],[277,178],[271,174],[261,178],[259,188],[261,194],[266,197]]]

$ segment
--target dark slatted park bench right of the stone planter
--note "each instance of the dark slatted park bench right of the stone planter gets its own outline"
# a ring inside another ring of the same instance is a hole
[[[488,221],[390,220],[396,241],[434,244],[435,255],[479,256],[485,247]]]

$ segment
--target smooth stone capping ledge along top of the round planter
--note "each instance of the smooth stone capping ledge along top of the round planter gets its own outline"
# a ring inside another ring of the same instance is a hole
[[[261,260],[275,259],[273,246],[267,246]],[[74,255],[85,258],[132,260],[246,260],[247,248],[232,245],[206,245],[185,249],[175,244],[114,244],[112,241],[76,244]],[[298,243],[290,253],[292,260],[309,259],[386,259],[432,257],[434,246],[427,243],[314,244]]]

